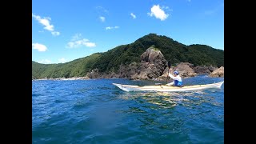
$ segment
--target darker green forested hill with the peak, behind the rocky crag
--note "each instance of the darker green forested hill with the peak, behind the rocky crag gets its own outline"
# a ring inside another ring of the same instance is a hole
[[[112,67],[118,70],[122,64],[140,62],[140,56],[147,48],[154,45],[161,50],[166,60],[173,64],[178,62],[190,62],[194,66],[224,66],[224,51],[217,50],[206,45],[186,46],[166,36],[148,34],[139,38],[134,43],[118,46],[102,54],[101,58],[94,63],[93,68],[99,71],[108,71]]]

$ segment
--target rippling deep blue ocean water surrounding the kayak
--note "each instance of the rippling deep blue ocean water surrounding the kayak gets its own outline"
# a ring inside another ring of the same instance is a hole
[[[184,85],[224,78],[199,75]],[[32,81],[32,143],[224,143],[224,84],[193,92],[126,92],[126,78]],[[164,82],[163,82],[164,83]]]

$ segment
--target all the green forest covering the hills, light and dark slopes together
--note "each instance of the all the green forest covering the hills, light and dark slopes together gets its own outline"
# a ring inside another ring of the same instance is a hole
[[[166,36],[148,34],[128,45],[117,46],[105,53],[92,54],[72,62],[47,65],[32,62],[32,78],[82,77],[95,68],[99,72],[116,71],[120,64],[140,62],[141,54],[152,45],[161,50],[166,60],[172,64],[190,62],[194,66],[224,66],[224,50],[206,45],[186,46]]]

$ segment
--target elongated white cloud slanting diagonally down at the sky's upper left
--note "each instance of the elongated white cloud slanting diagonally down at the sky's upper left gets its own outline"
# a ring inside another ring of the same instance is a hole
[[[42,26],[44,26],[44,29],[49,30],[51,34],[55,36],[60,34],[58,31],[54,31],[54,25],[50,24],[50,20],[51,20],[50,17],[41,18],[39,15],[32,14],[32,18],[34,18],[39,23],[41,23]]]

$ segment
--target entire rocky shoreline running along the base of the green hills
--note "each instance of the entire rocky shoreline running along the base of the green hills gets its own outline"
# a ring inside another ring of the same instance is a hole
[[[91,70],[85,77],[74,78],[42,78],[35,80],[77,80],[94,78],[129,78],[130,80],[166,81],[169,67],[162,52],[150,46],[142,55],[141,62],[132,62],[129,65],[120,65],[117,72],[100,73],[98,69]],[[198,74],[208,74],[210,77],[224,77],[224,67],[194,66],[189,62],[172,64],[171,73],[178,70],[182,78],[194,77]],[[167,79],[170,79],[169,77]],[[32,79],[33,80],[33,79]]]

